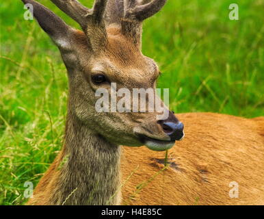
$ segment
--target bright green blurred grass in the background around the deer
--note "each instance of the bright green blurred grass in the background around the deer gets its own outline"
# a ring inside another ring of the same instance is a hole
[[[171,110],[263,116],[263,1],[236,1],[239,21],[229,20],[230,3],[169,0],[144,23],[143,51],[159,63],[159,87],[170,88]],[[66,68],[24,12],[20,1],[1,2],[0,205],[25,203],[25,181],[38,183],[64,134]]]

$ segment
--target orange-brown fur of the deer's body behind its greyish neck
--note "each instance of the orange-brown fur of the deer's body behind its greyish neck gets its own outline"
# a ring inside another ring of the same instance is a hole
[[[264,118],[211,113],[177,116],[185,123],[186,137],[170,149],[167,169],[163,170],[164,152],[122,148],[122,204],[263,205]],[[48,185],[58,175],[56,167],[63,153],[29,204],[52,204],[47,198],[55,188]],[[239,184],[239,198],[229,197],[231,181]],[[137,189],[139,185],[143,188]]]

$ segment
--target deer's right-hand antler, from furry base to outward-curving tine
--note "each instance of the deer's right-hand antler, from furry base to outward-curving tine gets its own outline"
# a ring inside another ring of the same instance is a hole
[[[119,8],[124,7],[124,17],[121,21],[122,34],[131,38],[135,44],[141,47],[142,22],[159,12],[166,1],[153,0],[144,5],[137,5],[137,0],[127,0],[127,4],[121,6],[120,0],[116,0],[116,5]]]

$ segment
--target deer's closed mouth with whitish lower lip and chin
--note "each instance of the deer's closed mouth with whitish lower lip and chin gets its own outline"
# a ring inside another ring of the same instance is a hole
[[[152,151],[166,151],[171,149],[175,144],[175,141],[172,140],[160,140],[143,135],[140,136],[140,140],[146,145],[148,149]]]

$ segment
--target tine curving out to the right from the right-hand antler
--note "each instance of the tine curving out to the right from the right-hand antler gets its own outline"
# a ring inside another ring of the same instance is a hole
[[[144,21],[146,18],[159,12],[167,0],[153,0],[144,5],[137,5],[136,0],[128,1],[129,3],[125,13],[125,18],[134,18],[137,21]]]

